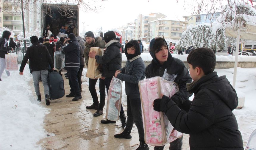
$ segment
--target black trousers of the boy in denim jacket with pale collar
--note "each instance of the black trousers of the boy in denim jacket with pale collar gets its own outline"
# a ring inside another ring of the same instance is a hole
[[[139,141],[144,141],[144,129],[141,114],[141,99],[130,99],[127,96],[127,123],[126,128],[132,130],[133,123],[137,126],[139,133]]]

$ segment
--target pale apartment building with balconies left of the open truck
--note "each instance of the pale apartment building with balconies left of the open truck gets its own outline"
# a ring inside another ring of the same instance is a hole
[[[42,1],[29,1],[24,6],[25,31],[33,32],[41,25]],[[23,31],[21,4],[14,0],[3,0],[3,26],[11,29],[15,35]]]

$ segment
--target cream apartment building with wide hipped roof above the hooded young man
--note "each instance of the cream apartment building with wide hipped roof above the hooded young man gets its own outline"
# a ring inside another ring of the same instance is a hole
[[[150,39],[158,36],[164,38],[180,39],[182,35],[183,21],[174,17],[160,18],[149,22],[150,24]]]

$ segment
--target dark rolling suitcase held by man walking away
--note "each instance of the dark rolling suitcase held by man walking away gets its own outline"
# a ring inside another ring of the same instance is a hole
[[[60,99],[65,95],[64,80],[56,70],[48,73],[49,96],[51,99]]]

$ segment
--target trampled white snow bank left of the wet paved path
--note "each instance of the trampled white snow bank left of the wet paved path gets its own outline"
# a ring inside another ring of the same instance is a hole
[[[24,76],[18,71],[10,74],[7,77],[4,72],[0,82],[0,149],[40,150],[36,142],[46,136],[43,122],[48,111],[33,96],[35,90],[28,65]]]

